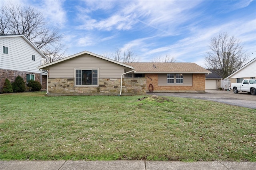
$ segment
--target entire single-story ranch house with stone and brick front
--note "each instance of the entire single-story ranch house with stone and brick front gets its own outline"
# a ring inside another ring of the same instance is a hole
[[[48,70],[48,95],[204,93],[211,73],[195,63],[120,63],[89,51],[38,68]]]

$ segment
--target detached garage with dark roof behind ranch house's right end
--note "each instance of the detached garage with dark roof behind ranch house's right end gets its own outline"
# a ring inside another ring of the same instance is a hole
[[[217,73],[218,70],[215,69],[207,69],[208,71],[212,72],[211,74],[206,74],[205,78],[205,89],[206,90],[215,90],[223,88],[222,77]]]

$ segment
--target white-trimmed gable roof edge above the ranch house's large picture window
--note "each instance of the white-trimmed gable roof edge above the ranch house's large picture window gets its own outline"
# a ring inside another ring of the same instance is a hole
[[[68,57],[59,59],[59,60],[57,60],[57,61],[53,61],[52,63],[48,63],[48,64],[45,64],[45,65],[41,65],[41,66],[38,67],[38,69],[43,69],[43,68],[48,67],[48,66],[50,66],[50,65],[54,65],[54,64],[56,64],[56,63],[60,63],[60,62],[62,62],[62,61],[65,61],[65,60],[68,60],[68,59],[72,59],[72,58],[74,58],[74,57],[77,57],[77,56],[80,56],[80,55],[84,55],[84,54],[89,54],[89,55],[92,55],[92,56],[94,56],[94,57],[98,57],[98,58],[101,58],[101,59],[110,61],[110,62],[112,62],[112,63],[116,63],[116,64],[118,64],[118,65],[122,65],[122,66],[128,67],[128,68],[130,68],[130,69],[134,69],[134,67],[132,67],[131,65],[127,65],[127,64],[124,64],[124,63],[120,63],[120,62],[118,62],[118,61],[115,61],[115,60],[112,60],[112,59],[103,57],[103,56],[101,56],[101,55],[98,55],[98,54],[95,54],[95,53],[92,53],[92,52],[89,52],[89,51],[82,51],[82,52],[80,52],[80,53],[76,53],[76,54],[74,54],[74,55],[70,55],[70,56],[68,56]]]

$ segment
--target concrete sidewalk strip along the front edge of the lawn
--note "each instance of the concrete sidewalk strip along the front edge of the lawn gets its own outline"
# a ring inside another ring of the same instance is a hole
[[[181,161],[0,161],[1,170],[255,170],[256,162]]]

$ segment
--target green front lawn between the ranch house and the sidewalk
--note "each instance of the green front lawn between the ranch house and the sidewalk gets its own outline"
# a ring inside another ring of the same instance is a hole
[[[44,93],[0,95],[1,160],[256,162],[256,109],[179,97]]]

